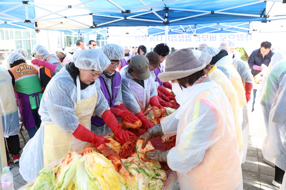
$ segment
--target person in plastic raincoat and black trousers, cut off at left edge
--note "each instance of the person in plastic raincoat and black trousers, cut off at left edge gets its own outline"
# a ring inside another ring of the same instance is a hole
[[[3,124],[3,132],[5,137],[5,150],[8,167],[9,164],[9,153],[12,154],[14,163],[19,162],[20,158],[20,140],[19,140],[19,116],[16,99],[12,83],[9,79],[8,72],[0,66],[0,107]],[[9,152],[6,147],[8,144]],[[3,160],[3,163],[5,161]]]

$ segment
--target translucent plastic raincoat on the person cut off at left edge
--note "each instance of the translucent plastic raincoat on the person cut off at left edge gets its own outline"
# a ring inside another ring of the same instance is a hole
[[[19,134],[19,115],[12,82],[7,71],[0,66],[0,106],[4,137]]]

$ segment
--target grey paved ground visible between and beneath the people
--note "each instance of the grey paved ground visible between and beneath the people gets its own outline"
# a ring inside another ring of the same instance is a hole
[[[252,95],[251,95],[252,96]],[[248,117],[249,117],[249,143],[247,150],[247,157],[244,164],[242,164],[242,176],[243,176],[243,188],[245,190],[271,190],[279,189],[272,185],[272,180],[275,175],[275,168],[266,164],[263,161],[263,155],[261,152],[261,146],[264,138],[266,137],[266,129],[263,123],[262,110],[259,104],[259,92],[257,92],[255,109],[251,112],[252,102],[251,99],[248,103]],[[27,131],[22,131],[26,142],[29,140]],[[23,139],[19,135],[20,146],[24,146]],[[20,152],[22,153],[22,151]],[[14,176],[14,188],[19,189],[27,182],[22,178],[19,173],[19,163],[10,163],[11,172]],[[173,190],[179,190],[179,183],[177,182]]]

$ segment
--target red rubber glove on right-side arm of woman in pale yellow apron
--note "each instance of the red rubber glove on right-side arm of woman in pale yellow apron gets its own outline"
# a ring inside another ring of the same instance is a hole
[[[106,110],[101,115],[101,117],[106,123],[106,125],[113,131],[115,140],[120,144],[124,144],[126,141],[130,140],[129,135],[134,135],[134,133],[131,133],[130,131],[125,131],[121,128],[115,116],[113,115],[113,113],[111,113],[110,110]]]

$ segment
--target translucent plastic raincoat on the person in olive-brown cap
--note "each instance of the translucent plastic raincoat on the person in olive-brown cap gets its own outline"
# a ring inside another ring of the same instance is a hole
[[[128,65],[120,71],[122,82],[122,98],[124,106],[132,113],[145,112],[149,107],[150,98],[157,96],[157,86],[152,76],[144,80],[144,88],[135,82],[127,72]]]

